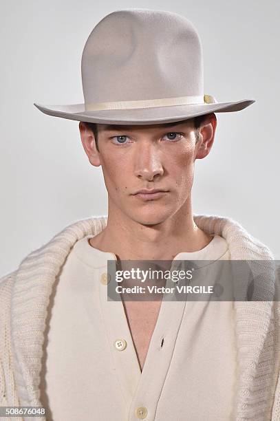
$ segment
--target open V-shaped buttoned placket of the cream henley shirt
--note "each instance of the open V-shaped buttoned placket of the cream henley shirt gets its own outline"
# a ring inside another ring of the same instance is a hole
[[[171,270],[176,267],[177,263],[173,262]],[[107,285],[110,281],[107,266],[100,268],[100,303],[116,375],[125,398],[127,419],[151,421],[155,419],[186,301],[169,301],[171,297],[164,295],[141,373],[123,303],[121,300],[107,300]],[[166,287],[172,286],[173,281],[168,280]]]

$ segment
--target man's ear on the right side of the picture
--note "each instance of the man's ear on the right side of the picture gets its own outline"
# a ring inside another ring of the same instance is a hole
[[[197,153],[195,156],[198,160],[205,158],[211,151],[215,138],[216,127],[217,118],[215,114],[208,114],[200,126],[200,136],[197,141]]]

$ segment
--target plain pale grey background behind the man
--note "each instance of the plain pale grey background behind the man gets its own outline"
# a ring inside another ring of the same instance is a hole
[[[193,209],[236,219],[280,259],[278,1],[2,0],[0,276],[68,224],[107,213],[102,173],[87,160],[78,122],[45,116],[33,102],[83,102],[87,36],[122,8],[184,14],[202,39],[205,94],[257,100],[217,114],[214,147],[197,161]]]

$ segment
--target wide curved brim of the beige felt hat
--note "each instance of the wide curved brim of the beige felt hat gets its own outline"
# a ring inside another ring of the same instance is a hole
[[[255,100],[235,102],[215,102],[213,104],[175,105],[168,107],[112,109],[104,111],[86,111],[85,104],[74,105],[40,105],[34,103],[44,114],[83,122],[118,125],[155,125],[203,116],[208,113],[228,113],[241,111],[253,104]]]

